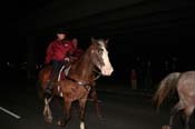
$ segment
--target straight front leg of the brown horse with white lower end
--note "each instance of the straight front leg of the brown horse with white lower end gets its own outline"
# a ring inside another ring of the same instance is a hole
[[[79,106],[80,106],[80,129],[85,129],[86,102],[87,102],[87,97],[79,99]]]

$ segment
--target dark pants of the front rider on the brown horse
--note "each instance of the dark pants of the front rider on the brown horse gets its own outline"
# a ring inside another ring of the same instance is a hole
[[[48,82],[48,89],[52,89],[52,82],[55,81],[55,77],[58,76],[58,72],[60,70],[60,68],[62,67],[62,62],[61,61],[57,61],[57,60],[52,60],[51,61],[51,78],[50,81]]]

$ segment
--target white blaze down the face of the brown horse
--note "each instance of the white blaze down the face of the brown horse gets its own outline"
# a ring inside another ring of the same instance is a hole
[[[101,49],[103,49],[103,60],[104,60],[104,63],[105,66],[101,67],[101,73],[104,76],[110,76],[111,72],[114,71],[113,67],[111,67],[111,63],[109,61],[109,57],[108,57],[108,51],[106,50],[105,48],[105,44],[103,41],[99,41],[99,44],[101,46]]]

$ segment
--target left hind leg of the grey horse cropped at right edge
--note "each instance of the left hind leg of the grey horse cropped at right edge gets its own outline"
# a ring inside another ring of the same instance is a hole
[[[173,119],[175,115],[178,112],[178,110],[184,109],[184,105],[182,101],[177,102],[175,107],[170,110],[170,119],[169,119],[169,126],[173,127]]]

